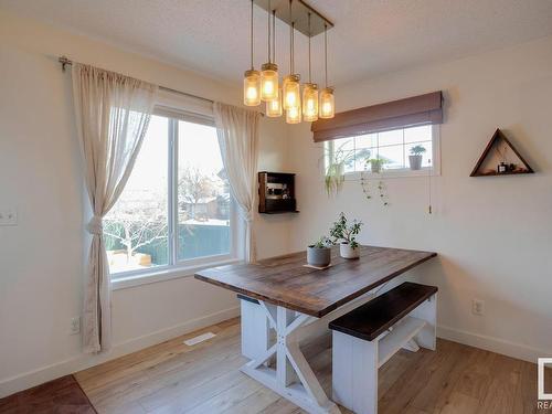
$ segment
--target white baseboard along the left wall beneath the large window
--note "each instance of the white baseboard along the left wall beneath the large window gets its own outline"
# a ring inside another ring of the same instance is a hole
[[[209,327],[226,319],[240,316],[240,307],[233,307],[217,312],[185,321],[170,328],[161,329],[156,332],[134,338],[125,342],[114,344],[112,350],[98,355],[79,354],[74,358],[59,361],[56,363],[39,368],[0,381],[0,399],[11,395],[18,391],[26,390],[44,382],[55,380],[56,378],[67,375],[86,368],[91,368],[103,362],[123,357],[127,353],[139,351],[140,349],[151,347],[178,336],[192,332],[194,330]]]

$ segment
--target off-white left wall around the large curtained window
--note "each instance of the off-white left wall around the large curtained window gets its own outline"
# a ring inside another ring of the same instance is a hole
[[[105,358],[237,315],[235,296],[191,277],[115,290],[114,351],[81,353],[70,319],[81,314],[82,163],[70,74],[57,56],[230,104],[236,87],[0,11],[0,397]],[[286,170],[287,128],[264,119],[259,169]],[[259,256],[286,252],[288,226],[259,217]],[[267,236],[269,235],[269,236]]]

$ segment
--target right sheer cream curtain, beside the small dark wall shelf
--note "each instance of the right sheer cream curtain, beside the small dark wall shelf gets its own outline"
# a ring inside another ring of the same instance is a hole
[[[261,115],[257,112],[221,103],[214,103],[213,109],[224,169],[247,226],[245,258],[248,263],[253,263],[256,258],[253,209],[256,193]]]

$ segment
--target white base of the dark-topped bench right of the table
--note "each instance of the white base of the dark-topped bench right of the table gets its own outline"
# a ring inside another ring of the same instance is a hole
[[[373,341],[332,331],[332,400],[357,414],[378,413],[378,369],[401,348],[435,350],[437,295]]]

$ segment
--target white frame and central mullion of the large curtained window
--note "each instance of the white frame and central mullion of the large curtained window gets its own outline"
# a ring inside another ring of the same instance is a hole
[[[134,269],[118,273],[110,273],[110,284],[113,289],[120,289],[141,284],[149,284],[160,280],[172,279],[177,277],[193,276],[198,269],[236,263],[242,261],[243,248],[240,241],[243,238],[243,225],[240,223],[237,206],[232,195],[230,194],[230,252],[224,254],[209,255],[194,257],[190,259],[178,258],[179,237],[177,236],[178,227],[178,164],[179,164],[179,121],[206,125],[215,128],[214,118],[212,116],[199,115],[184,109],[177,109],[156,105],[153,108],[155,116],[168,118],[168,264],[144,269]]]

